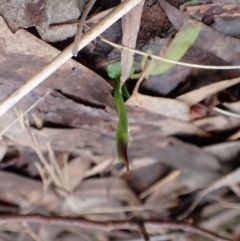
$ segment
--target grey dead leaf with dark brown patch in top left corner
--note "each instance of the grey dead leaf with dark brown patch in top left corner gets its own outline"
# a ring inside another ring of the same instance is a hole
[[[0,15],[13,32],[36,26],[41,38],[48,42],[75,35],[76,25],[51,24],[77,20],[80,14],[78,0],[0,0]]]

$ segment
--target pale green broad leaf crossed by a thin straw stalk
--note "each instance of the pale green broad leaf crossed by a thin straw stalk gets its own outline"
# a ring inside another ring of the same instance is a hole
[[[163,57],[166,59],[179,61],[187,50],[194,44],[201,31],[201,28],[201,23],[188,20],[176,34]],[[151,50],[149,50],[149,53],[152,53]],[[142,59],[142,66],[144,66],[145,61],[146,57]],[[171,69],[174,65],[175,64],[164,61],[159,62],[157,60],[152,60],[145,77],[148,78],[149,75],[163,74]]]

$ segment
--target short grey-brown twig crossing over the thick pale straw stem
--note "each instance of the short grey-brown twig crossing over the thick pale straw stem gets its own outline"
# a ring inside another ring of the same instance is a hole
[[[79,24],[78,24],[78,27],[77,27],[77,32],[76,32],[76,35],[75,35],[74,46],[73,46],[73,55],[74,56],[77,56],[77,54],[78,54],[78,46],[79,46],[79,43],[80,43],[81,37],[82,37],[83,25],[84,25],[84,22],[87,18],[88,13],[92,9],[93,4],[95,2],[96,2],[96,0],[88,0],[86,6],[84,8],[84,11],[83,11],[81,19],[79,21]]]

